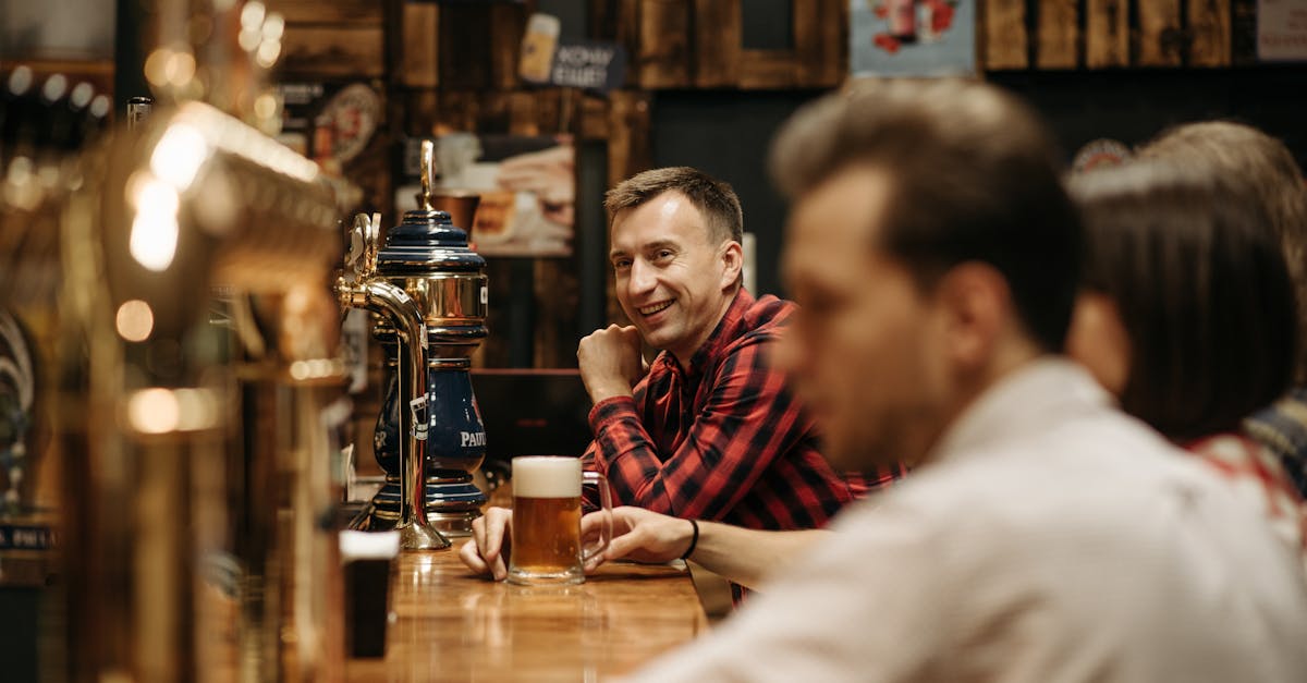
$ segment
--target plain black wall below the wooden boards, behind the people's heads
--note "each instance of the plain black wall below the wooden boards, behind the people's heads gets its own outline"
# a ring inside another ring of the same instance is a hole
[[[1222,71],[991,73],[1048,119],[1070,161],[1085,143],[1142,143],[1167,126],[1235,119],[1282,139],[1307,166],[1307,65]],[[745,229],[757,234],[759,292],[782,293],[776,256],[786,205],[766,173],[767,145],[816,90],[668,90],[654,98],[657,166],[689,165],[736,188]]]

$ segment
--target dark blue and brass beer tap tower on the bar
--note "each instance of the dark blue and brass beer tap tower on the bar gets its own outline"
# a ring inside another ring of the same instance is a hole
[[[463,536],[471,534],[472,521],[486,501],[472,483],[472,472],[485,457],[485,427],[469,376],[471,356],[486,336],[485,259],[468,246],[464,229],[471,226],[478,198],[434,192],[433,156],[433,144],[423,141],[420,208],[404,213],[379,251],[375,224],[363,229],[367,255],[362,268],[354,267],[358,283],[388,283],[417,304],[427,351],[423,406],[420,398],[408,398],[404,391],[403,379],[414,374],[405,365],[416,360],[413,353],[401,353],[397,344],[405,332],[388,319],[374,317],[372,335],[386,348],[387,379],[372,449],[386,470],[386,485],[356,526],[404,529],[406,510],[425,510],[434,529]],[[359,217],[356,224],[369,220]],[[356,228],[354,234],[359,232]],[[412,440],[403,425],[409,420],[426,451],[420,470],[425,472],[422,495],[401,478],[408,471],[403,445]],[[410,501],[410,495],[421,500]]]

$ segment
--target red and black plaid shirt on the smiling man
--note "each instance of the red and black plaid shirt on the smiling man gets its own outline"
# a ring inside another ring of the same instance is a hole
[[[877,476],[842,478],[818,451],[813,421],[767,362],[795,305],[744,289],[689,370],[663,352],[634,396],[589,413],[588,470],[601,472],[614,505],[749,529],[814,529]]]

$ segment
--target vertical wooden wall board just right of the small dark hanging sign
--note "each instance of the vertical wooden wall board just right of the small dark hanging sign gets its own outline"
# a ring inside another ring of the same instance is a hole
[[[638,21],[639,47],[635,64],[639,86],[689,86],[689,0],[640,0]]]

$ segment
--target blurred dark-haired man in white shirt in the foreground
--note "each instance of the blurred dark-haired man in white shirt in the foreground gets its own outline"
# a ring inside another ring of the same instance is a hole
[[[1259,510],[1059,356],[1081,234],[1026,107],[855,86],[772,164],[801,306],[779,361],[836,467],[915,472],[829,533],[621,509],[605,559],[761,586],[635,680],[1307,678],[1307,585]]]

